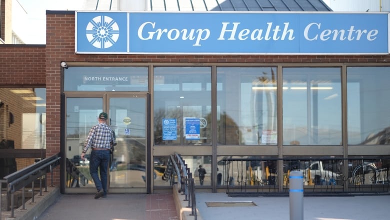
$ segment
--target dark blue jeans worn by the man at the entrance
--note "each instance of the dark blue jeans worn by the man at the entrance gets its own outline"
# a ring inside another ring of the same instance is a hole
[[[92,150],[90,153],[89,173],[92,176],[97,191],[104,190],[104,195],[107,194],[107,168],[109,162],[109,150]],[[100,179],[97,174],[99,168]]]

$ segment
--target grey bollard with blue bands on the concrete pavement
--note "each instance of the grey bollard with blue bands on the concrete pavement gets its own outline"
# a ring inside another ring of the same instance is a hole
[[[291,171],[290,181],[290,220],[303,220],[303,173]]]

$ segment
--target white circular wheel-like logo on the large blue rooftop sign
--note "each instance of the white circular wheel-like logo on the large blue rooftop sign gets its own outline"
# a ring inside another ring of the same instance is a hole
[[[99,49],[109,48],[119,38],[119,27],[110,17],[97,16],[89,21],[85,34],[93,47]]]

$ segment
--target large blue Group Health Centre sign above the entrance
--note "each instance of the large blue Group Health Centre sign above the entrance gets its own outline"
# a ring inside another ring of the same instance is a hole
[[[388,13],[76,12],[76,53],[388,54]]]

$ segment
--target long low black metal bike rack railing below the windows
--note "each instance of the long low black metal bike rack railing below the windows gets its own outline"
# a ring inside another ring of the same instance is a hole
[[[306,194],[390,193],[390,158],[385,157],[225,158],[218,169],[231,194],[288,193],[290,171],[302,171]]]

